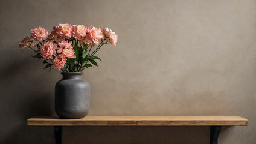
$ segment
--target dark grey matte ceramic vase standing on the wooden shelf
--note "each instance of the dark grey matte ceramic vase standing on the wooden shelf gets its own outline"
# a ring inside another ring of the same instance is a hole
[[[82,78],[83,73],[62,73],[63,78],[55,85],[55,112],[60,118],[84,118],[89,112],[90,85]]]

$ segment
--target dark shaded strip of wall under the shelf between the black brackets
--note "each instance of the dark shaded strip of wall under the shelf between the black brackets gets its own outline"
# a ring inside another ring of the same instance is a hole
[[[65,143],[205,144],[209,127],[64,127]]]

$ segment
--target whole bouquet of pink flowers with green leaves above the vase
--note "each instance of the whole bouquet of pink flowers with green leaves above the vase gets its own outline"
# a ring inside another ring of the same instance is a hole
[[[101,29],[94,26],[59,24],[54,26],[51,34],[48,30],[35,28],[31,30],[31,37],[24,38],[19,47],[32,49],[34,58],[43,59],[45,68],[53,65],[63,72],[80,72],[85,68],[98,66],[94,56],[104,45],[117,43],[117,35],[109,28]],[[96,48],[94,48],[96,47]]]

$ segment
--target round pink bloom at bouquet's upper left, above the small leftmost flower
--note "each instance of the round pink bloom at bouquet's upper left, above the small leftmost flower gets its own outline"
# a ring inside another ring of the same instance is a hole
[[[47,29],[44,29],[41,26],[39,26],[39,28],[31,29],[31,38],[34,38],[36,41],[46,40],[47,35]]]

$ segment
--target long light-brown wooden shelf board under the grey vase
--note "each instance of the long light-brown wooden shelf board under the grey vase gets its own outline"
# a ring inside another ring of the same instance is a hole
[[[86,116],[82,119],[60,119],[37,116],[27,120],[28,125],[101,125],[101,126],[235,126],[247,125],[240,116]]]

